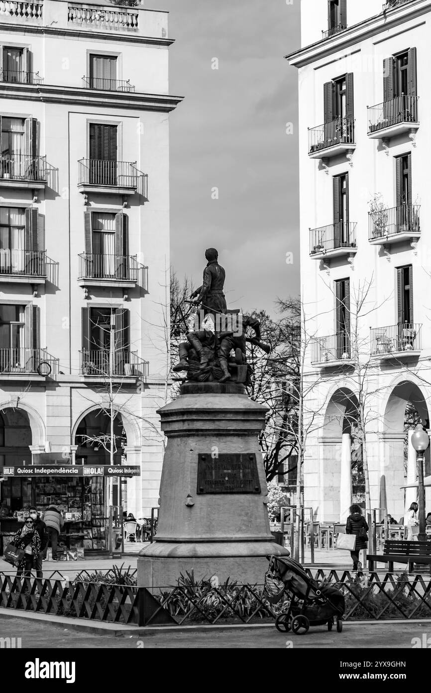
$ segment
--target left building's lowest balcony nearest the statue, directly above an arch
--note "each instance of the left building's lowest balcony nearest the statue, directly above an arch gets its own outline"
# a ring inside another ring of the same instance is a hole
[[[80,375],[93,378],[136,378],[145,376],[147,362],[129,349],[83,349],[80,351]]]

